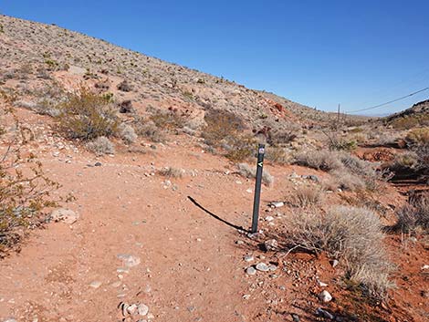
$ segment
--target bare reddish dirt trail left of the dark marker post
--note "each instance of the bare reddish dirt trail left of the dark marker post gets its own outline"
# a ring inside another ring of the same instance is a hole
[[[162,165],[197,174],[171,184],[145,175],[151,161],[160,166],[153,155],[117,157],[116,165],[108,157],[100,167],[85,166],[83,159],[45,161],[64,191],[75,192],[77,201],[68,207],[80,219],[69,227],[47,225],[32,234],[20,254],[0,262],[0,317],[119,320],[120,301],[146,304],[156,321],[246,321],[253,315],[242,298],[247,277],[245,251],[235,244],[239,234],[188,199],[246,227],[244,213],[252,204],[246,190],[253,182],[223,174],[225,161],[213,156],[201,161],[195,151],[186,151],[178,149],[170,158],[174,164]],[[141,263],[118,273],[119,254]],[[102,285],[90,287],[94,281]]]

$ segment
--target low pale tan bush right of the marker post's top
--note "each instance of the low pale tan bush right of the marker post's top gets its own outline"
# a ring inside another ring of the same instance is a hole
[[[331,171],[343,167],[339,154],[332,151],[305,151],[295,156],[295,163],[309,168]]]

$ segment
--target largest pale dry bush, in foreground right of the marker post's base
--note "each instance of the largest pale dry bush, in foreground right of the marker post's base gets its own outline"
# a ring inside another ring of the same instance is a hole
[[[289,247],[325,252],[340,260],[351,281],[371,296],[385,296],[392,286],[382,226],[368,209],[336,206],[327,213],[293,213],[284,235]]]

